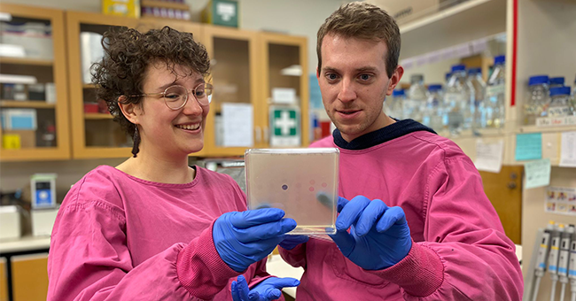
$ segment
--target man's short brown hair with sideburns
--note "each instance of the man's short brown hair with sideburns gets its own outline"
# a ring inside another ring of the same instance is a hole
[[[396,21],[384,10],[373,4],[353,2],[344,4],[332,12],[318,29],[316,53],[318,54],[318,71],[322,70],[322,42],[326,35],[339,35],[345,38],[357,38],[384,41],[388,47],[385,56],[386,73],[392,77],[400,57],[400,29]]]

